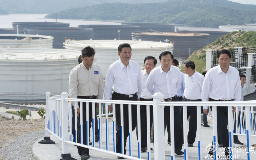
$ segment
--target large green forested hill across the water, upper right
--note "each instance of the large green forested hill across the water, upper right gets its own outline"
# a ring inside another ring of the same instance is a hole
[[[229,7],[224,7],[226,5]],[[233,8],[231,8],[233,7]],[[241,8],[241,9],[235,9]],[[250,10],[248,10],[250,8]],[[254,8],[254,10],[252,10]],[[195,27],[242,25],[256,22],[256,5],[225,0],[169,0],[163,3],[103,3],[57,13],[58,18],[119,20],[122,22],[170,23]],[[54,18],[55,13],[47,18]]]

